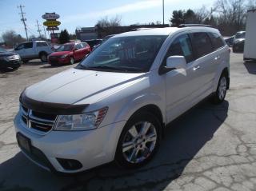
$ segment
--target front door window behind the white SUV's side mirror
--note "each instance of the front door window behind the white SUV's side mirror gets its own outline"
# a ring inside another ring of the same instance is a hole
[[[164,65],[166,65],[166,59],[170,56],[184,56],[187,63],[194,60],[190,38],[187,34],[181,35],[171,43],[164,59]]]

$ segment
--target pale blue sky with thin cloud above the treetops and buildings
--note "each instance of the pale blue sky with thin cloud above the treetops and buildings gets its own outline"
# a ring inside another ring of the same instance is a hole
[[[212,6],[210,0],[165,0],[165,22],[173,10],[198,9],[202,5]],[[134,23],[162,22],[162,0],[0,0],[0,35],[6,30],[15,30],[25,37],[18,5],[26,13],[28,35],[38,36],[36,20],[42,25],[42,14],[55,12],[62,24],[60,29],[74,33],[77,26],[94,26],[98,19],[115,15],[122,17],[122,25]],[[42,30],[42,26],[41,26]]]

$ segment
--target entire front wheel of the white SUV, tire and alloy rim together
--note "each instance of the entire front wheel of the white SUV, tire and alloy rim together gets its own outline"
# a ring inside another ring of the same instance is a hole
[[[142,127],[146,133],[142,133]],[[160,142],[161,125],[157,117],[138,112],[126,122],[119,137],[116,163],[124,168],[138,168],[154,157]],[[146,141],[147,140],[147,141]]]

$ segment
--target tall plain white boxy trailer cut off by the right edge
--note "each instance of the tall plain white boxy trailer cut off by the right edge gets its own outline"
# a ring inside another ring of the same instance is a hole
[[[256,10],[248,10],[246,16],[246,40],[243,60],[254,60],[256,62]]]

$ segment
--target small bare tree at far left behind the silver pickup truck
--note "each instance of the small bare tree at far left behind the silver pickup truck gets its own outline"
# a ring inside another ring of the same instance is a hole
[[[14,46],[26,41],[26,39],[22,38],[20,34],[16,34],[14,30],[8,30],[3,33],[2,40],[6,43],[7,46]]]

